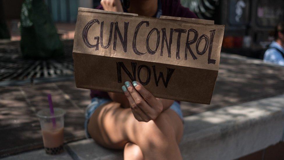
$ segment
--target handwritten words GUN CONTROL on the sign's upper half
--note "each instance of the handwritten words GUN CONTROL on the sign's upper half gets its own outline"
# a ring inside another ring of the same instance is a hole
[[[112,39],[112,32],[113,32],[113,24],[114,24],[114,38],[113,38],[113,50],[116,50],[116,42],[117,42],[117,36],[119,37],[119,40],[122,44],[123,47],[123,51],[127,52],[127,31],[128,31],[128,26],[129,26],[129,22],[124,22],[124,36],[122,36],[120,29],[118,27],[118,22],[111,22],[110,24],[110,29],[109,29],[109,40],[108,43],[106,45],[103,44],[103,31],[104,31],[104,21],[101,22],[101,26],[100,26],[100,36],[95,37],[94,39],[97,40],[96,44],[90,44],[88,41],[88,31],[90,29],[90,27],[92,27],[93,24],[100,24],[99,20],[94,19],[91,20],[90,22],[88,22],[86,24],[86,26],[84,27],[83,31],[82,31],[82,37],[83,37],[83,41],[85,43],[85,45],[89,48],[95,48],[95,50],[99,50],[99,44],[101,45],[102,48],[106,49],[109,48],[110,44],[111,44],[111,39]],[[140,52],[137,50],[136,48],[136,39],[137,39],[137,34],[139,32],[139,29],[141,28],[141,26],[145,24],[146,27],[149,27],[149,21],[141,21],[139,24],[137,24],[135,31],[134,31],[134,36],[133,36],[133,40],[132,40],[132,49],[134,51],[135,54],[137,55],[143,55],[146,52]],[[167,39],[167,33],[166,33],[166,28],[162,28],[162,36],[160,37],[160,31],[157,28],[153,28],[150,30],[150,32],[148,33],[148,36],[146,38],[146,49],[147,52],[149,54],[155,54],[157,52],[157,49],[159,47],[160,44],[160,39],[161,39],[161,52],[160,55],[163,56],[163,49],[164,49],[164,43],[166,43],[166,48],[168,51],[168,57],[171,57],[171,44],[172,44],[172,38],[173,38],[173,32],[177,33],[177,48],[176,48],[176,54],[175,57],[176,59],[180,59],[180,38],[181,38],[181,34],[186,34],[187,33],[187,40],[185,42],[185,52],[184,52],[184,60],[187,60],[187,52],[189,51],[189,53],[191,54],[191,57],[196,60],[197,57],[194,54],[194,52],[191,49],[191,45],[193,45],[194,43],[196,43],[196,53],[198,55],[203,55],[207,49],[208,49],[208,64],[215,64],[215,59],[211,59],[211,52],[212,52],[212,47],[213,47],[213,39],[214,39],[214,35],[215,35],[215,31],[216,30],[212,30],[209,31],[210,32],[210,38],[203,34],[198,38],[198,31],[196,31],[195,29],[173,29],[170,28],[170,34],[169,34],[169,39]],[[157,41],[156,41],[156,48],[155,50],[150,49],[149,47],[149,39],[152,35],[153,32],[157,33]],[[193,39],[189,40],[189,35],[190,34],[194,34]],[[205,45],[202,51],[198,50],[198,47],[200,45],[200,42],[204,40],[205,41]]]

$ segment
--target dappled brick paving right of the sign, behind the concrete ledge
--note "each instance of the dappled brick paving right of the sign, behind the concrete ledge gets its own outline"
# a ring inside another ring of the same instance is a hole
[[[182,102],[184,116],[284,94],[284,67],[221,52],[210,105]]]

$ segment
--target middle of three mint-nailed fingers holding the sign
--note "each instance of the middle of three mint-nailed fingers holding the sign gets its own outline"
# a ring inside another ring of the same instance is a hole
[[[125,82],[125,86],[127,87],[128,92],[131,94],[133,97],[136,105],[143,110],[143,112],[146,113],[146,115],[152,115],[153,112],[155,111],[153,108],[149,106],[149,104],[144,100],[144,98],[140,95],[138,91],[134,88],[132,83],[129,81]]]

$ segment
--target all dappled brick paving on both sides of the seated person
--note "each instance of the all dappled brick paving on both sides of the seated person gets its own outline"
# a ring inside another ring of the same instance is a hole
[[[211,104],[182,102],[184,116],[284,93],[284,67],[224,53],[220,64]],[[0,157],[42,148],[35,114],[48,108],[48,93],[55,107],[67,111],[65,142],[84,139],[84,108],[90,92],[76,88],[74,80],[0,87]]]

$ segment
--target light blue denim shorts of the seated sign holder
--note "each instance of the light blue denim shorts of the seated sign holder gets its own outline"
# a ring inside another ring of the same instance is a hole
[[[106,98],[98,98],[98,97],[94,97],[91,101],[91,103],[87,106],[86,110],[85,110],[85,134],[87,138],[90,138],[90,135],[88,133],[88,122],[90,117],[93,115],[93,113],[95,112],[95,110],[102,106],[105,103],[111,102],[111,99],[106,99]],[[182,117],[182,111],[180,109],[180,104],[177,103],[177,101],[174,101],[174,103],[171,105],[170,107],[173,111],[175,111],[177,113],[177,115],[180,117],[180,119],[182,119],[183,122],[183,117]]]

